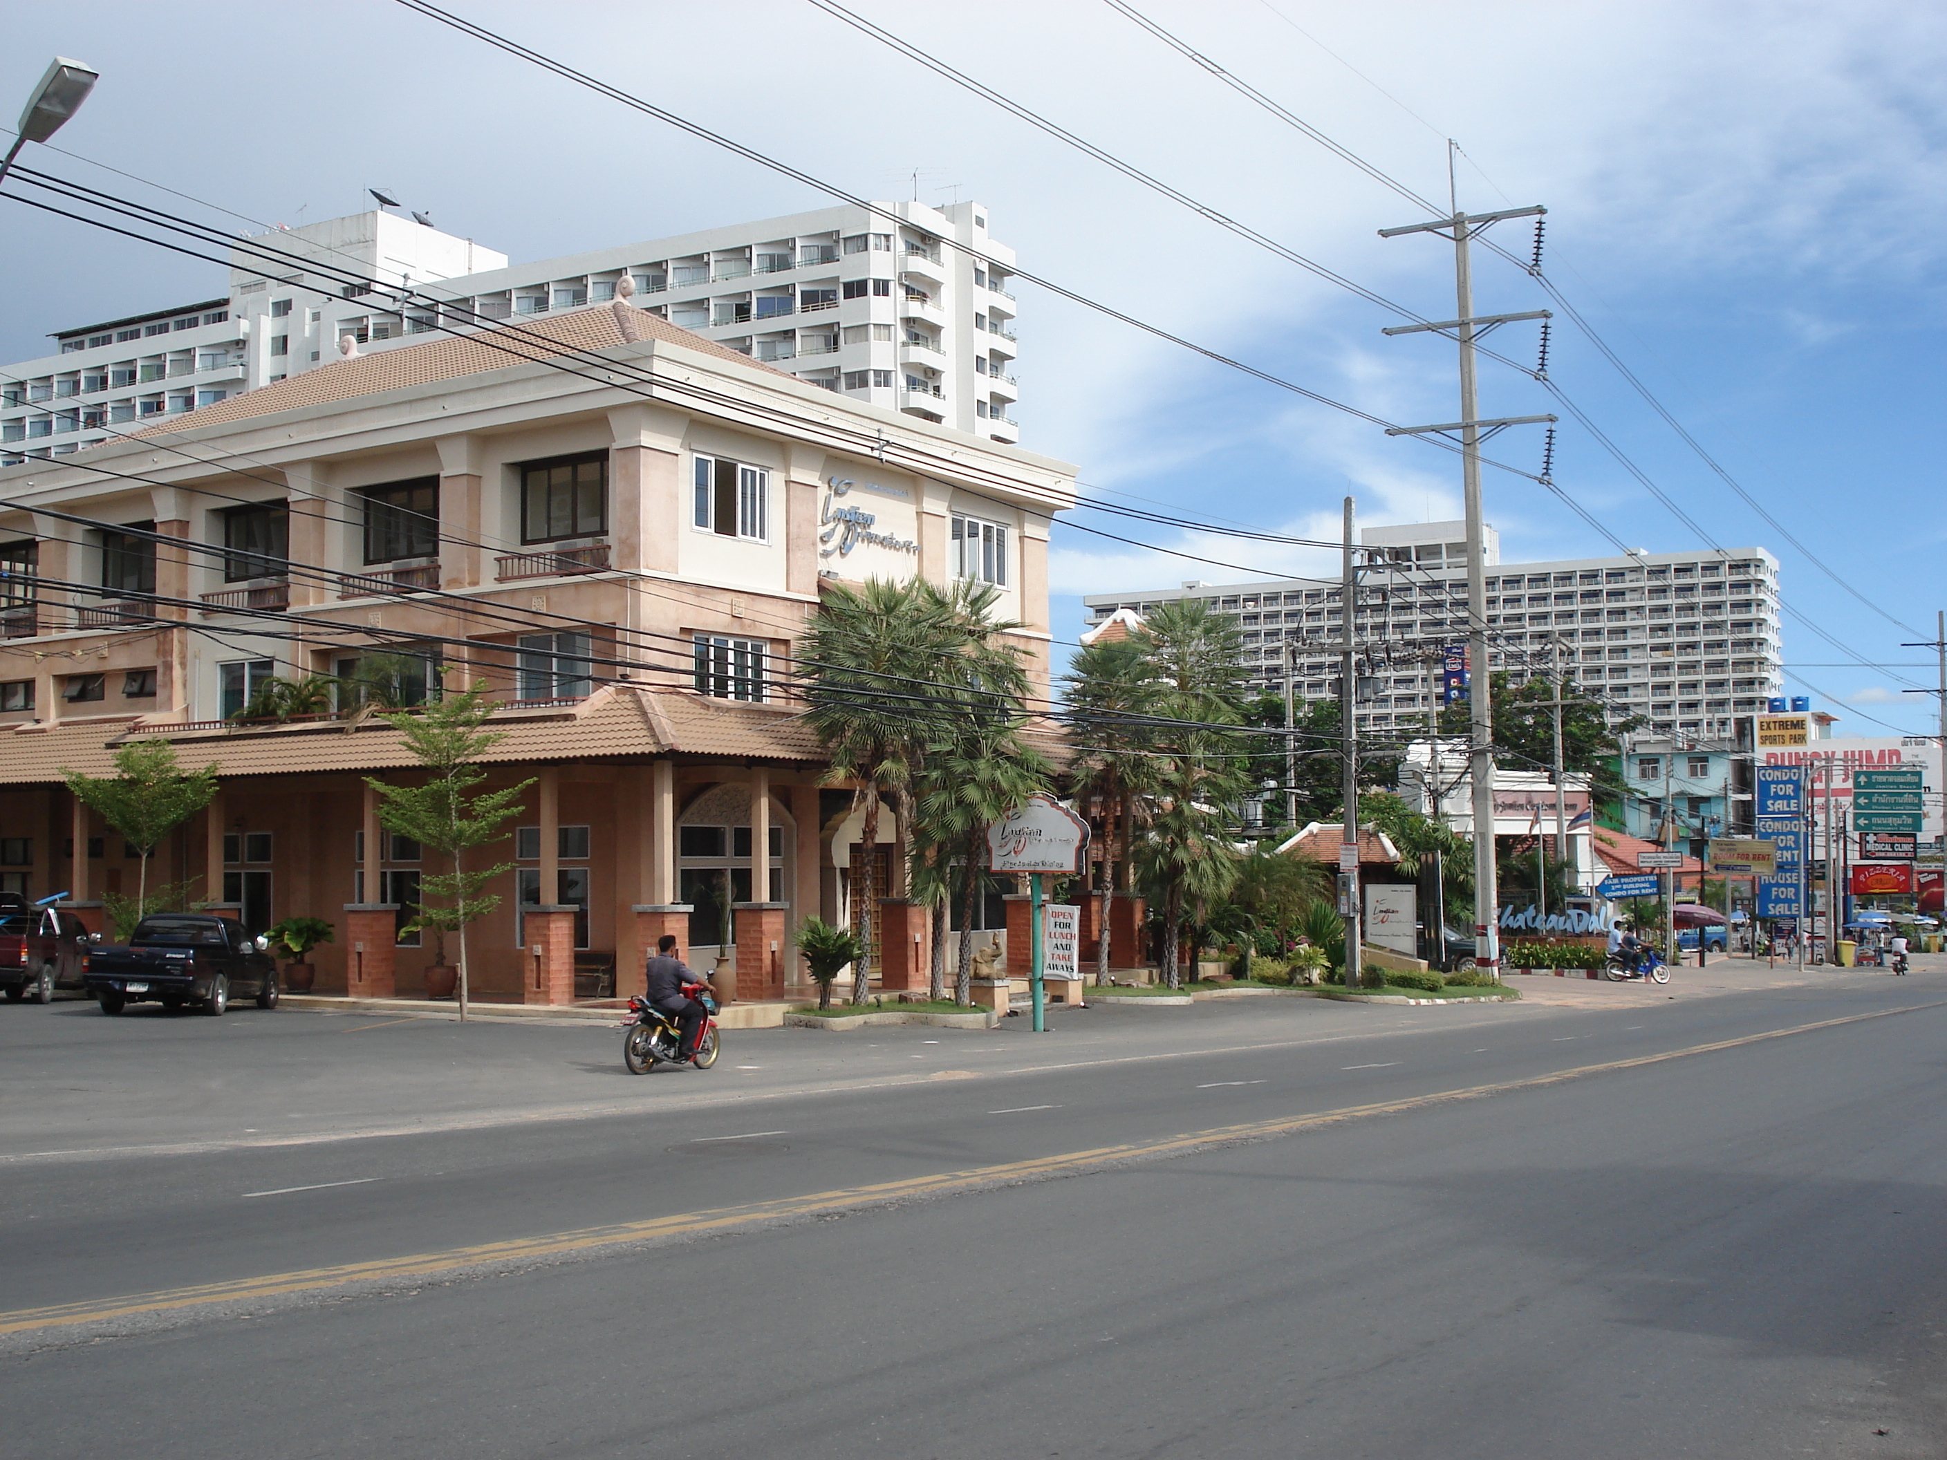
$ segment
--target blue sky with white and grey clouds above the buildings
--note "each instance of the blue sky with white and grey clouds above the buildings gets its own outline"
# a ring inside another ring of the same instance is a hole
[[[1404,424],[1458,419],[1452,345],[1380,335],[1398,315],[808,0],[446,4],[851,193],[979,199],[1022,269],[1281,380]],[[1947,10],[1131,4],[1423,197],[1447,199],[1452,138],[1460,206],[1546,204],[1550,278],[1721,469],[1558,317],[1550,378],[1704,537],[1573,420],[1558,487],[1630,547],[1770,549],[1789,609],[1787,693],[1840,714],[1836,734],[1935,730],[1937,699],[1904,693],[1935,683],[1933,658],[1900,644],[1937,637],[1947,603],[1933,442]],[[851,8],[1365,290],[1452,317],[1452,249],[1378,237],[1419,222],[1415,204],[1104,0]],[[442,230],[526,261],[827,201],[387,0],[14,8],[8,41],[0,97],[25,97],[56,53],[101,72],[55,138],[78,156],[41,152],[35,165],[201,218],[315,222],[386,185]],[[1532,245],[1526,222],[1491,237],[1523,257]],[[210,265],[0,201],[0,358],[222,288]],[[1482,313],[1550,304],[1493,257],[1478,257],[1474,292]],[[1460,516],[1458,457],[1032,284],[1016,294],[1022,446],[1073,461],[1084,496],[1312,539],[1338,537],[1347,494],[1365,526]],[[1493,345],[1532,362],[1534,325]],[[1546,411],[1560,407],[1538,385],[1484,360],[1484,415]],[[1534,428],[1489,448],[1525,471],[1540,452]],[[1503,563],[1614,553],[1525,477],[1488,471],[1484,493]],[[1057,640],[1084,627],[1090,592],[1336,572],[1318,549],[1075,520],[1143,547],[1057,526]]]

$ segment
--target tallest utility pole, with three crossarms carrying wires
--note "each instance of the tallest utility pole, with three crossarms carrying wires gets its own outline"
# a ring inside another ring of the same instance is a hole
[[[1384,335],[1414,335],[1431,331],[1460,345],[1460,420],[1439,426],[1388,426],[1388,436],[1441,434],[1452,438],[1458,432],[1460,471],[1466,498],[1466,605],[1468,605],[1468,775],[1474,790],[1474,960],[1499,977],[1501,936],[1497,929],[1499,909],[1495,907],[1495,860],[1493,860],[1493,705],[1488,674],[1488,533],[1484,531],[1480,500],[1480,446],[1507,426],[1554,424],[1556,417],[1503,417],[1482,420],[1474,387],[1474,347],[1491,329],[1517,319],[1548,319],[1548,310],[1528,310],[1525,313],[1474,315],[1474,267],[1468,243],[1476,234],[1486,232],[1503,218],[1540,218],[1548,212],[1542,206],[1503,208],[1468,216],[1454,206],[1451,218],[1427,224],[1408,224],[1404,228],[1380,228],[1380,237],[1400,237],[1404,234],[1441,234],[1454,245],[1454,304],[1458,319],[1427,325],[1394,325]]]

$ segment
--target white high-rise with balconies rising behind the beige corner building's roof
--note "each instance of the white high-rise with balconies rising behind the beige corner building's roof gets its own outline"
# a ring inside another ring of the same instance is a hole
[[[979,202],[874,208],[528,265],[382,210],[263,234],[232,251],[228,294],[64,329],[55,354],[0,368],[0,463],[66,456],[296,376],[339,358],[345,337],[370,352],[547,315],[613,298],[625,274],[635,304],[670,323],[814,385],[1014,444],[1014,251],[987,236]]]

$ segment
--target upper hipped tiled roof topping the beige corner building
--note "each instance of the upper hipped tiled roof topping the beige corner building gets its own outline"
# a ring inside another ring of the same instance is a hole
[[[502,370],[522,360],[557,360],[569,350],[606,350],[615,345],[637,345],[641,341],[666,341],[720,360],[734,360],[753,370],[771,370],[767,364],[752,360],[716,341],[691,335],[687,329],[672,325],[660,315],[637,310],[617,300],[615,304],[592,304],[584,310],[565,313],[522,317],[506,327],[483,327],[465,335],[442,335],[421,345],[401,345],[376,354],[354,354],[349,360],[333,360],[302,376],[290,376],[275,385],[261,385],[228,401],[204,405],[189,415],[169,417],[165,422],[132,432],[134,438],[165,436],[191,426],[220,426],[232,420],[247,420],[276,411],[302,411],[308,405],[329,405],[349,401],[358,395],[378,395],[382,391],[428,385],[438,380],[458,380],[477,376],[487,370]],[[783,376],[781,370],[771,374]],[[789,380],[789,376],[787,376]],[[119,438],[117,438],[119,440]]]

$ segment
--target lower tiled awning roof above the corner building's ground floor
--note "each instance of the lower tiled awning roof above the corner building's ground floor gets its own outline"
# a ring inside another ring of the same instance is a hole
[[[563,707],[506,709],[489,720],[506,738],[481,761],[588,761],[623,755],[722,755],[824,763],[818,736],[789,709],[609,685]],[[386,720],[183,730],[129,718],[21,726],[0,736],[0,785],[53,785],[60,773],[113,775],[123,740],[162,736],[185,767],[214,763],[224,777],[387,771],[415,765]]]

